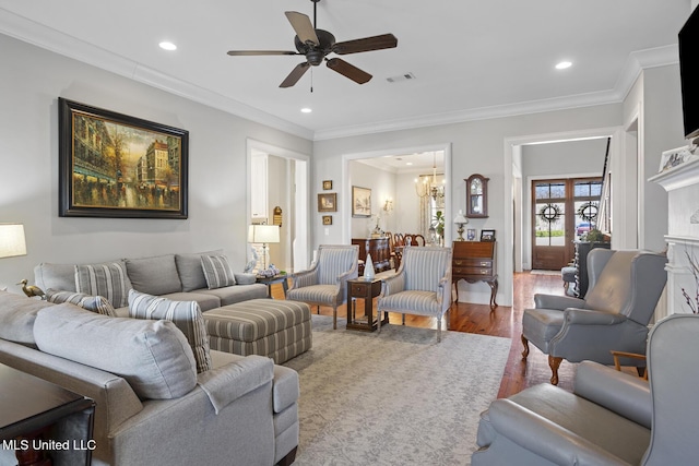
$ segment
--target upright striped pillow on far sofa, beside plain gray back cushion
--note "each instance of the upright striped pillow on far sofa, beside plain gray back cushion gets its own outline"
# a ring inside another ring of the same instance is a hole
[[[104,296],[115,308],[129,303],[131,282],[122,262],[75,265],[75,291]]]

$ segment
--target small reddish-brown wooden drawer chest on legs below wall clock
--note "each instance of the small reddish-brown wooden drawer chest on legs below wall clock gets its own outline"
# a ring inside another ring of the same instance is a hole
[[[451,260],[451,282],[457,284],[459,301],[459,280],[469,283],[485,282],[490,286],[490,308],[497,308],[498,274],[495,241],[454,241]]]

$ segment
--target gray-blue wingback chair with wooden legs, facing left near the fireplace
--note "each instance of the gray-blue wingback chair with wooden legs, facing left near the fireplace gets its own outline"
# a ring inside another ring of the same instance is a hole
[[[665,254],[650,251],[590,251],[585,299],[535,295],[535,309],[524,310],[522,359],[529,356],[529,343],[548,355],[556,385],[564,359],[612,365],[613,349],[644,354],[648,323],[667,280],[666,262]],[[644,365],[637,361],[631,362]]]

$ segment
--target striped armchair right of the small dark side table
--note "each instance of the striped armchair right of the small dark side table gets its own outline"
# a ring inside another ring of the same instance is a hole
[[[379,332],[381,312],[402,313],[403,325],[405,314],[429,315],[437,318],[437,342],[441,342],[441,318],[450,307],[451,248],[406,247],[398,273],[381,287]]]

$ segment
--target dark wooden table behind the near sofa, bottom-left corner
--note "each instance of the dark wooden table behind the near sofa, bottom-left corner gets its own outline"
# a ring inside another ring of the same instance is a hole
[[[92,399],[0,365],[0,440],[20,466],[90,465],[94,413]]]

